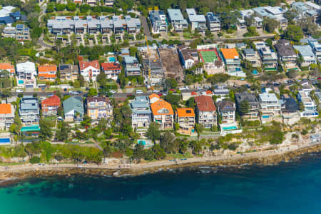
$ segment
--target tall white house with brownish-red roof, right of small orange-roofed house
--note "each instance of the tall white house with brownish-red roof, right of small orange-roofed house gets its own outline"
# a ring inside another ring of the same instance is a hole
[[[196,122],[204,128],[217,126],[217,113],[213,99],[210,96],[195,96],[196,103]]]

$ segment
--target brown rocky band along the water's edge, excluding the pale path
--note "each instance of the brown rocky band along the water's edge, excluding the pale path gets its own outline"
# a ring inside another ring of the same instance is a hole
[[[126,175],[138,176],[146,173],[157,173],[159,171],[173,170],[175,168],[190,168],[201,165],[210,167],[229,166],[229,165],[275,165],[282,161],[290,161],[295,157],[302,156],[305,153],[317,153],[321,151],[321,144],[310,146],[306,148],[299,148],[295,151],[288,151],[285,153],[275,153],[267,157],[244,157],[238,159],[226,159],[221,161],[199,161],[193,163],[179,163],[165,166],[157,166],[150,168],[126,168],[126,169],[108,169],[108,168],[79,168],[79,167],[63,167],[63,168],[39,168],[37,170],[16,170],[3,171],[0,173],[0,186],[11,185],[20,180],[32,177],[49,178],[53,176],[73,177],[77,175],[82,176],[114,176],[121,177]]]

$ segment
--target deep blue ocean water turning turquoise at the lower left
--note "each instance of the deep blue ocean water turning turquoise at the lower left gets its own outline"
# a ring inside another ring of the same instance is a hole
[[[0,214],[321,213],[321,155],[275,166],[126,178],[31,178],[0,188]]]

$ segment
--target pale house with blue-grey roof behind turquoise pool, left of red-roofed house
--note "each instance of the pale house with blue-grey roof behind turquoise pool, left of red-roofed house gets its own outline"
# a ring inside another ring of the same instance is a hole
[[[19,103],[19,117],[22,126],[39,127],[39,102],[33,96],[23,96]]]

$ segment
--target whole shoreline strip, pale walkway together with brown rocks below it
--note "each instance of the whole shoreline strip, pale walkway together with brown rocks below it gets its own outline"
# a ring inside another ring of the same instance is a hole
[[[0,186],[6,186],[32,177],[53,176],[114,176],[126,175],[138,176],[146,173],[157,173],[173,168],[188,168],[201,165],[207,166],[241,166],[241,165],[275,165],[282,161],[290,161],[292,158],[305,153],[321,151],[321,143],[305,143],[300,146],[287,146],[278,150],[262,151],[255,153],[211,156],[202,158],[188,158],[177,161],[156,161],[150,163],[137,163],[131,165],[108,164],[24,164],[0,166]]]

